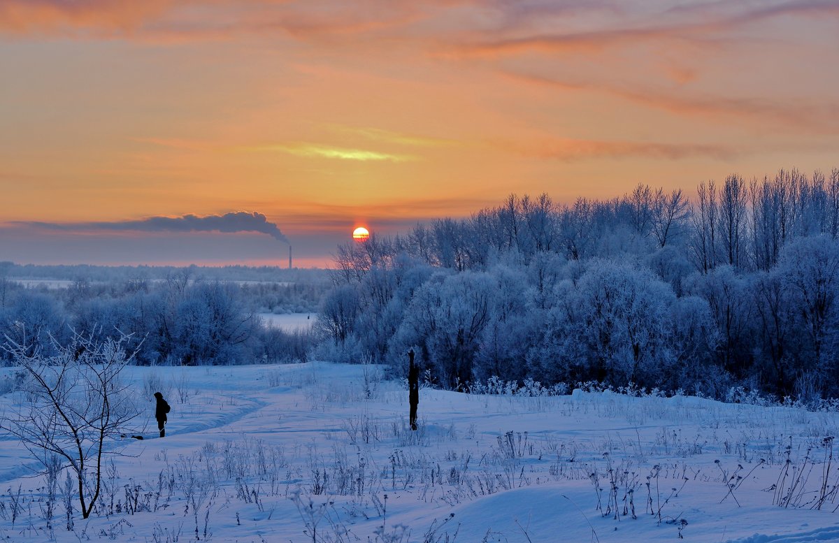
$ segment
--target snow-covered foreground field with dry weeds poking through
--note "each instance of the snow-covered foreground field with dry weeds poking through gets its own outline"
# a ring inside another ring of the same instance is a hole
[[[839,540],[839,472],[826,462],[835,413],[425,389],[411,432],[407,391],[369,366],[129,368],[126,377],[147,439],[112,443],[123,456],[108,460],[98,514],[76,515],[68,531],[59,505],[45,530],[43,481],[3,437],[0,538]],[[156,389],[172,406],[162,439]],[[8,412],[14,394],[0,401]]]

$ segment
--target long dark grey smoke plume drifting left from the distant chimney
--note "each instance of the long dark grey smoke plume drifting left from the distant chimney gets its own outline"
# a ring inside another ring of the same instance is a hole
[[[180,217],[148,217],[140,220],[119,220],[110,222],[54,223],[41,221],[15,221],[20,226],[34,226],[47,230],[110,230],[140,232],[258,232],[274,239],[288,242],[279,227],[256,211],[232,211],[224,215],[183,215]]]

